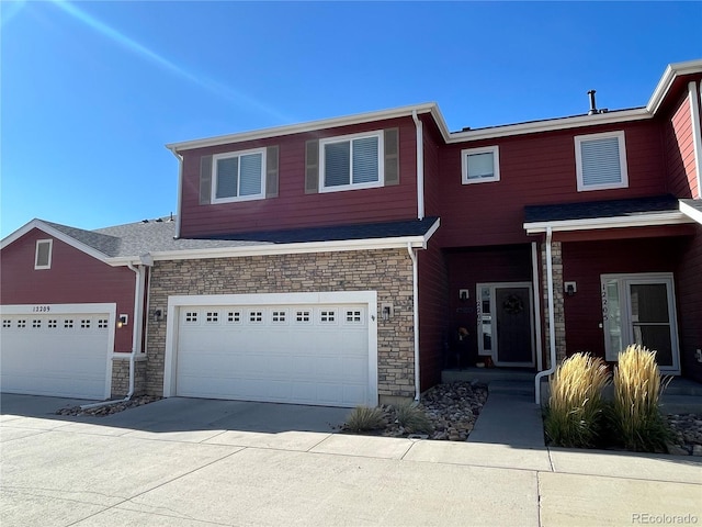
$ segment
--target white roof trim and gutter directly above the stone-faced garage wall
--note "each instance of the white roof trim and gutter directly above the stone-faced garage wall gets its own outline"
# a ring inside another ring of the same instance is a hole
[[[414,248],[426,249],[429,238],[440,225],[440,220],[424,235],[398,236],[390,238],[341,239],[333,242],[305,242],[295,244],[246,245],[237,247],[216,247],[207,249],[182,249],[152,251],[154,261],[201,260],[206,258],[241,258],[246,256],[303,255],[310,253],[341,253],[349,250],[404,249],[407,244]],[[138,264],[138,257],[111,258],[111,265]]]

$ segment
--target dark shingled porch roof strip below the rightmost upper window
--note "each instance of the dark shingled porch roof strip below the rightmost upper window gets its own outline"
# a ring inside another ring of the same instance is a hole
[[[524,208],[524,223],[636,216],[656,212],[676,212],[678,210],[678,199],[670,194],[629,200],[586,201],[581,203],[558,203],[556,205],[528,205]]]

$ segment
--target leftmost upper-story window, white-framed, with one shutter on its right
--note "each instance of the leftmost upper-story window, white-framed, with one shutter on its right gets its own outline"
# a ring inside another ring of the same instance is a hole
[[[265,148],[212,157],[212,203],[265,198]]]

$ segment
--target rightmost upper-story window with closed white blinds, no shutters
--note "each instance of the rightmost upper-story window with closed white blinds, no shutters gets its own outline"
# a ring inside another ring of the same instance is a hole
[[[578,192],[629,187],[624,132],[577,135],[575,162]]]

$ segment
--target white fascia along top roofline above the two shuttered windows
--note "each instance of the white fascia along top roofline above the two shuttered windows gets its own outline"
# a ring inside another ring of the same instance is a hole
[[[377,112],[359,113],[342,117],[324,119],[320,121],[310,121],[307,123],[288,124],[272,128],[257,130],[252,132],[241,132],[237,134],[219,135],[204,139],[184,141],[180,143],[169,143],[166,148],[172,153],[192,150],[193,148],[204,148],[208,146],[227,145],[230,143],[242,143],[245,141],[264,139],[268,137],[279,137],[282,135],[302,134],[306,132],[315,132],[317,130],[331,128],[338,126],[349,126],[352,124],[371,123],[374,121],[384,121],[387,119],[411,116],[412,112],[432,113],[435,117],[438,112],[435,102],[427,102],[423,104],[414,104],[409,106],[394,108],[390,110],[381,110]],[[442,120],[443,121],[443,120]]]

